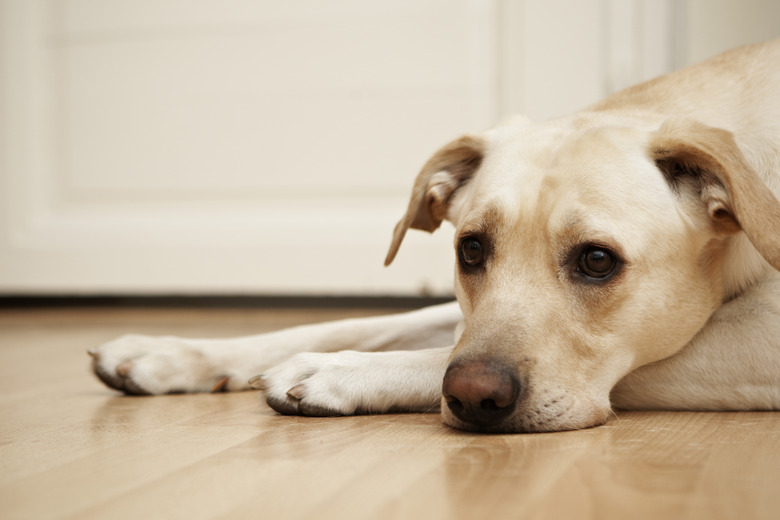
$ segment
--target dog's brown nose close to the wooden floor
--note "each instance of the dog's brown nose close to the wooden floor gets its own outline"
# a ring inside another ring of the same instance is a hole
[[[474,426],[493,426],[515,409],[520,379],[498,361],[461,361],[447,367],[442,385],[447,407]]]

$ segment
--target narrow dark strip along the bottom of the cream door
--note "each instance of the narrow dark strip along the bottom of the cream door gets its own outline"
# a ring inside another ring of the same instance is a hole
[[[454,300],[455,297],[429,296],[252,296],[252,295],[4,295],[0,309],[43,308],[418,308]]]

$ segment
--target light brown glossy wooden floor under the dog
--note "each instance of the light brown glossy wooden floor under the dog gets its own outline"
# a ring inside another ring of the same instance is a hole
[[[88,347],[369,311],[0,311],[0,518],[780,518],[780,413],[619,413],[473,435],[282,417],[255,393],[123,397]]]

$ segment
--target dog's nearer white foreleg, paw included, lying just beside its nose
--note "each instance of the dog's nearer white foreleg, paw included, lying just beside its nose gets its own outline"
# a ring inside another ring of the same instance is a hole
[[[438,411],[452,348],[298,354],[252,384],[288,415]]]

